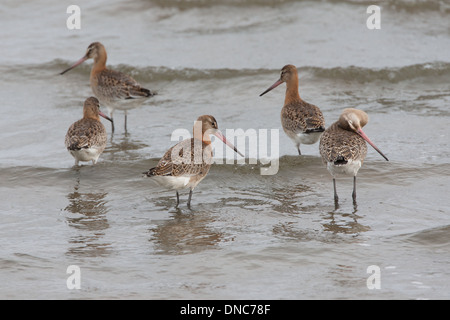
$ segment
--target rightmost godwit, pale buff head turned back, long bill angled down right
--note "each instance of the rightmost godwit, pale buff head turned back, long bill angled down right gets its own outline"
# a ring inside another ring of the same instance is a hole
[[[367,154],[366,141],[389,161],[362,131],[369,121],[367,113],[361,110],[344,109],[339,120],[333,123],[320,138],[320,155],[328,171],[333,176],[334,201],[339,198],[336,192],[336,175],[353,176],[353,201],[356,201],[356,174]]]

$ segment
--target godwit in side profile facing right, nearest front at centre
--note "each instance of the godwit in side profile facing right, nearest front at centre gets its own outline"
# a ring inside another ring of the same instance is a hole
[[[192,191],[205,178],[211,167],[213,157],[211,134],[243,156],[219,131],[216,119],[210,115],[203,115],[194,124],[193,138],[177,143],[167,150],[155,168],[144,172],[159,185],[176,190],[177,207],[180,203],[178,190],[190,189],[188,199],[190,207]]]

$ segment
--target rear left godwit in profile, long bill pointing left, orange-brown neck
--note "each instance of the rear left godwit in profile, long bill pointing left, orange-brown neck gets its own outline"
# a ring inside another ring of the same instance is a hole
[[[125,132],[127,131],[127,110],[142,104],[142,99],[151,97],[154,93],[142,88],[129,75],[106,68],[106,50],[100,42],[94,42],[87,48],[86,54],[61,74],[75,68],[88,59],[94,59],[91,70],[91,88],[94,95],[105,105],[111,118],[111,128],[114,132],[113,112],[115,109],[125,111]]]

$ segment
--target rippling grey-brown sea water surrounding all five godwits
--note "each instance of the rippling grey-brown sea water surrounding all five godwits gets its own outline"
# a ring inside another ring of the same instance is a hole
[[[371,1],[77,4],[80,30],[57,1],[0,4],[1,298],[450,298],[448,1],[382,1],[380,30],[366,27]],[[58,73],[93,41],[158,95],[127,134],[117,111],[99,163],[76,168],[64,135],[92,95],[91,62]],[[318,144],[299,157],[281,130],[283,86],[259,97],[288,63],[327,126],[347,107],[370,116],[390,161],[369,149],[355,204],[341,178],[335,207]],[[213,165],[177,209],[141,172],[202,114],[224,133],[279,130],[279,170],[261,175],[246,140],[246,159]]]

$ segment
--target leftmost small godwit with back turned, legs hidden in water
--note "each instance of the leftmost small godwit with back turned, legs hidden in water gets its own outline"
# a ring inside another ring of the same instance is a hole
[[[107,134],[105,126],[100,122],[99,115],[111,121],[100,111],[97,98],[86,99],[83,107],[83,119],[74,122],[66,133],[66,148],[75,158],[76,166],[79,161],[97,163],[98,157],[105,150]]]

